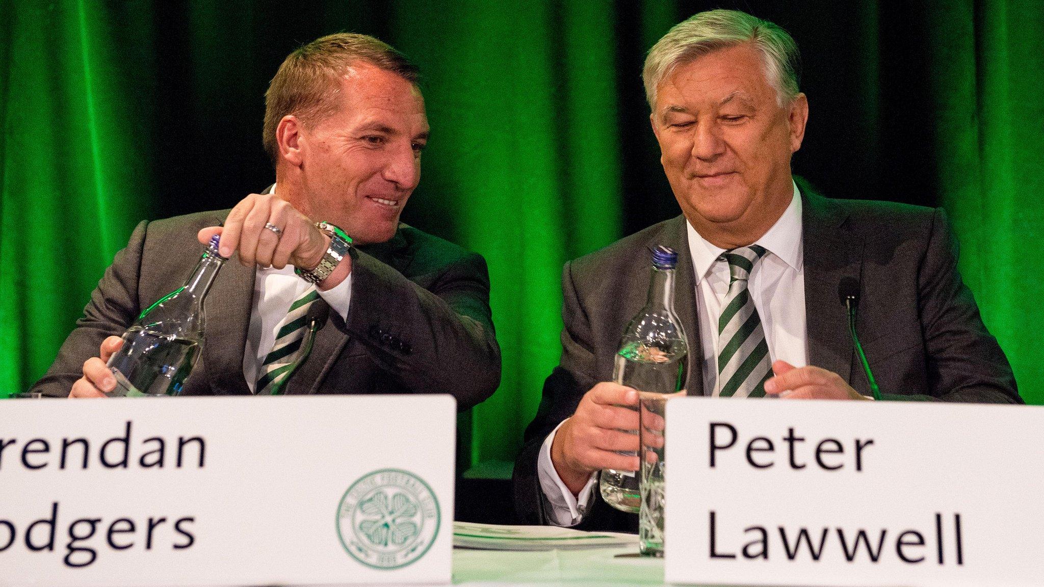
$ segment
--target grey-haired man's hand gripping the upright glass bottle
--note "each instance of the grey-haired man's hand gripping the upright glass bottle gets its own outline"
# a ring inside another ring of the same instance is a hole
[[[638,392],[598,383],[584,394],[576,412],[566,420],[551,443],[551,463],[569,491],[576,495],[599,469],[637,471],[638,456],[617,451],[638,451]]]

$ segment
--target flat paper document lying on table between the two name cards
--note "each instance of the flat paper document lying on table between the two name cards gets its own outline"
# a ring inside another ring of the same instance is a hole
[[[453,522],[453,546],[485,550],[576,550],[606,546],[638,547],[638,536],[618,532],[584,532],[547,525],[499,525]]]

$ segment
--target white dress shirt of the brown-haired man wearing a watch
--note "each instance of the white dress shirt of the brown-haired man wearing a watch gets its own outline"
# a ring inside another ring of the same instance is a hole
[[[277,186],[272,186],[272,193]],[[267,229],[266,229],[267,230]],[[293,265],[281,269],[258,267],[254,277],[254,307],[251,309],[251,326],[246,331],[246,347],[243,349],[243,377],[251,393],[256,393],[261,366],[276,345],[276,327],[290,311],[293,301],[312,285],[293,273]],[[345,281],[323,291],[315,288],[319,297],[330,305],[330,309],[348,322],[348,306],[352,301],[352,274]]]

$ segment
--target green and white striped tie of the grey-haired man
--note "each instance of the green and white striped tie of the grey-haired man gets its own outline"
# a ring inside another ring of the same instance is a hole
[[[765,331],[746,288],[754,263],[765,253],[757,244],[725,252],[730,280],[725,311],[718,319],[720,397],[764,397],[765,380],[773,373]]]

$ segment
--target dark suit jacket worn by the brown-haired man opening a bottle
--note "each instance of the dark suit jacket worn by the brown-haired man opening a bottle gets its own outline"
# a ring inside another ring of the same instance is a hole
[[[138,225],[33,391],[69,395],[102,339],[121,335],[142,308],[184,283],[204,251],[196,233],[228,213]],[[250,393],[242,362],[254,277],[255,267],[233,256],[215,278],[204,304],[204,350],[184,395]],[[322,299],[309,316],[319,329],[287,394],[448,393],[464,410],[500,382],[485,261],[406,225],[388,242],[353,251],[347,322]]]

